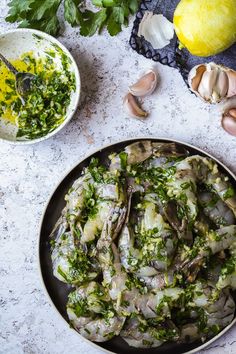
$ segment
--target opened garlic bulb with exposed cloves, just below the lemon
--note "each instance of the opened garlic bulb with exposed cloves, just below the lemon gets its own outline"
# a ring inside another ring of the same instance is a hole
[[[223,65],[207,63],[189,73],[191,91],[209,103],[218,103],[236,95],[236,72]]]

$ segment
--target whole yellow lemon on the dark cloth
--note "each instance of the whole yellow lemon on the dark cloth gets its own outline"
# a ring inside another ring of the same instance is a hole
[[[191,54],[218,54],[236,42],[236,0],[181,0],[174,26]]]

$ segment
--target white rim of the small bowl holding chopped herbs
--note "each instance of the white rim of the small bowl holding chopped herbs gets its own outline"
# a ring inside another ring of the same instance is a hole
[[[56,128],[54,129],[52,132],[48,133],[47,135],[40,137],[40,138],[36,138],[36,139],[32,139],[32,140],[8,140],[5,138],[0,137],[0,141],[4,142],[6,144],[10,144],[10,145],[31,145],[31,144],[35,144],[35,143],[39,143],[41,141],[47,140],[49,138],[51,138],[52,136],[54,136],[55,134],[57,134],[61,129],[63,129],[67,123],[69,123],[69,121],[72,119],[72,117],[74,116],[78,105],[79,105],[79,101],[80,101],[80,95],[81,95],[81,77],[80,77],[80,72],[79,72],[79,68],[78,65],[74,59],[74,57],[72,56],[72,54],[69,52],[69,50],[64,46],[64,44],[62,44],[58,39],[56,39],[55,37],[51,36],[50,34],[40,31],[40,30],[36,30],[36,29],[32,29],[32,28],[15,28],[15,29],[10,29],[8,31],[5,31],[3,33],[0,34],[0,39],[4,36],[7,36],[8,34],[12,34],[12,33],[20,33],[20,32],[26,32],[26,33],[32,33],[32,34],[37,34],[41,37],[43,37],[44,39],[48,39],[49,41],[51,41],[52,43],[56,43],[62,50],[63,52],[70,58],[72,65],[73,65],[73,71],[75,74],[75,80],[76,80],[76,90],[75,90],[75,103],[73,105],[73,108],[71,109],[69,114],[66,114],[65,120]]]

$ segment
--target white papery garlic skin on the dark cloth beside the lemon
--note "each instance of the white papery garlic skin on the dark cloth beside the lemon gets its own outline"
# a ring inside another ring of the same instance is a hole
[[[153,49],[161,49],[174,37],[174,26],[163,15],[146,11],[139,25],[138,36],[143,36]]]

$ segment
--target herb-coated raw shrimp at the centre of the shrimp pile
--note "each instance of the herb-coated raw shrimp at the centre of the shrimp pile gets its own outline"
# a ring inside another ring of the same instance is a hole
[[[139,204],[142,216],[137,220],[137,231],[133,232],[133,216],[128,213],[119,237],[121,263],[128,272],[138,277],[153,276],[158,270],[166,270],[177,244],[175,231],[159,213],[159,201],[150,201],[153,199],[153,195],[146,195]],[[136,240],[139,248],[135,247]]]

